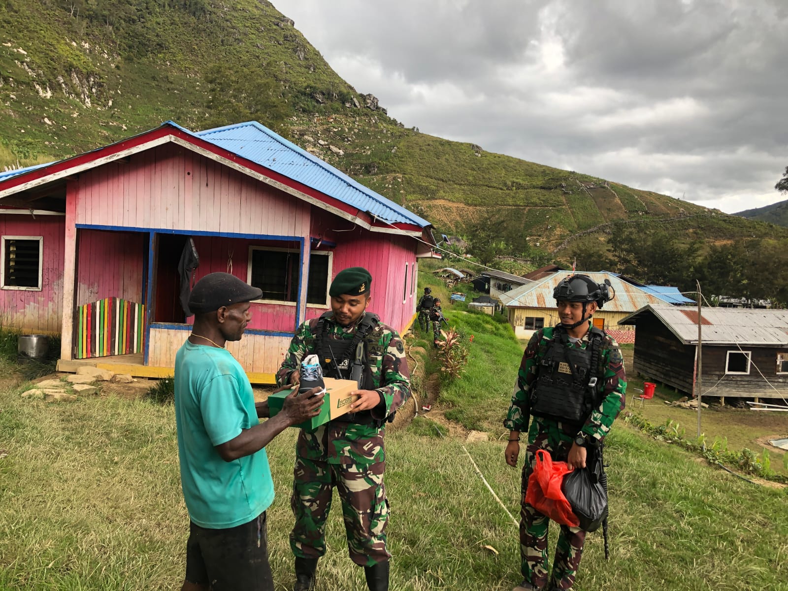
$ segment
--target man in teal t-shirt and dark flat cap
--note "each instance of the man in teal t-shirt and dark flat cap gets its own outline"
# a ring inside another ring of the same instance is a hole
[[[240,363],[225,349],[251,320],[262,291],[229,273],[195,285],[191,335],[175,357],[180,481],[191,520],[183,591],[273,590],[266,509],[273,481],[266,445],[286,427],[318,414],[318,388],[284,400],[266,422]]]

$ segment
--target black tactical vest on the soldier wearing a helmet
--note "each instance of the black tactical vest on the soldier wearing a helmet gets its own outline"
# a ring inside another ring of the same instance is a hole
[[[569,336],[553,329],[546,351],[540,351],[537,382],[531,391],[530,414],[582,425],[600,403],[604,331],[592,327],[585,349],[567,347]]]

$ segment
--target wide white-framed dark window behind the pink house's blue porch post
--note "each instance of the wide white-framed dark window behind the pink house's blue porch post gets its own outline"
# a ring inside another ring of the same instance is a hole
[[[307,304],[319,307],[328,304],[331,254],[310,254]],[[295,305],[301,282],[300,262],[299,251],[295,249],[249,247],[247,281],[262,289],[262,301]]]

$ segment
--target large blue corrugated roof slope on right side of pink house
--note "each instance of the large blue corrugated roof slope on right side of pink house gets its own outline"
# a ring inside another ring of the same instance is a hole
[[[188,129],[184,131],[193,133]],[[429,225],[429,221],[356,182],[257,121],[206,129],[193,135],[383,221],[414,224],[422,228]]]

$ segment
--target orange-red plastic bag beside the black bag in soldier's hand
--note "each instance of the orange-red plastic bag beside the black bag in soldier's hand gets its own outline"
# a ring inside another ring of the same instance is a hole
[[[553,462],[546,450],[537,450],[537,456],[533,460],[533,472],[528,477],[526,503],[556,523],[578,527],[580,520],[574,515],[567,497],[561,492],[563,477],[571,471],[572,468],[566,462]]]

